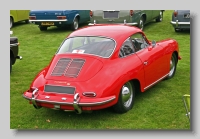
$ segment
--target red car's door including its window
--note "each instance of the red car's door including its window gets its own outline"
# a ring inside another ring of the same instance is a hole
[[[156,83],[166,74],[166,58],[162,47],[156,45],[152,47],[146,41],[143,34],[137,33],[131,36],[136,55],[142,61],[145,71],[145,88],[147,89],[152,84]]]

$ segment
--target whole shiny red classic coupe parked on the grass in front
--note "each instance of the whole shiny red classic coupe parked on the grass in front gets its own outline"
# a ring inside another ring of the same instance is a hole
[[[172,78],[179,59],[176,40],[151,42],[134,26],[88,26],[62,42],[23,97],[37,109],[125,113],[136,91]]]

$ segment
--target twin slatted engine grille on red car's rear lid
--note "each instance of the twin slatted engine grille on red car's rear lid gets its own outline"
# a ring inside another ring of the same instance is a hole
[[[61,58],[54,67],[51,76],[77,77],[84,63],[84,59]]]

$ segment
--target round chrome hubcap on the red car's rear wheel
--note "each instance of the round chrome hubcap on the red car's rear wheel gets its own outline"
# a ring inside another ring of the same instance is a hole
[[[133,90],[131,83],[126,83],[122,87],[122,102],[125,107],[129,107],[132,103]]]

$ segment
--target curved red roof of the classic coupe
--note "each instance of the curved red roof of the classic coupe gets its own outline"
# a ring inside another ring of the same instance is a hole
[[[68,37],[74,36],[105,36],[118,39],[126,39],[136,32],[142,32],[139,28],[129,25],[92,25],[80,28],[72,32]]]

